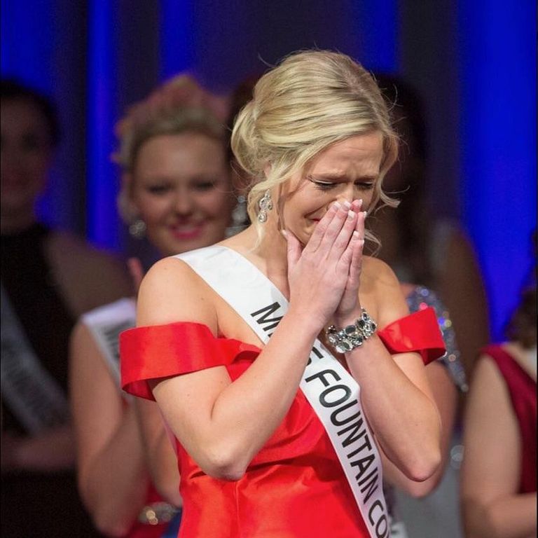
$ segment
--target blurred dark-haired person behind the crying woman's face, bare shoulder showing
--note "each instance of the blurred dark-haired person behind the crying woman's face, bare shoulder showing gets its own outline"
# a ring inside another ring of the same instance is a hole
[[[474,250],[455,221],[436,218],[427,195],[425,113],[411,85],[394,76],[375,75],[401,137],[398,162],[387,174],[387,192],[400,204],[371,218],[382,244],[378,256],[400,282],[432,289],[452,317],[461,360],[470,375],[476,353],[490,340],[488,306]]]

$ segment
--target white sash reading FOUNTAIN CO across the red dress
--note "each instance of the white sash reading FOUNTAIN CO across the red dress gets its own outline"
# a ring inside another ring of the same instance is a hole
[[[263,343],[268,342],[288,301],[247,258],[219,245],[175,257],[188,263]],[[381,460],[364,418],[357,381],[315,340],[300,387],[331,439],[371,538],[389,537]]]

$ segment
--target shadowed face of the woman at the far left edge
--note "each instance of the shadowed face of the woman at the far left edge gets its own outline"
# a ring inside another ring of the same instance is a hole
[[[32,214],[46,185],[53,144],[46,118],[28,99],[0,105],[0,200],[3,217]]]

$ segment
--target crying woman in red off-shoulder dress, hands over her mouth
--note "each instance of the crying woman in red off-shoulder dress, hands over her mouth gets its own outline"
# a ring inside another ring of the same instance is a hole
[[[382,462],[415,481],[439,464],[423,361],[443,343],[362,255],[366,212],[392,202],[385,103],[350,57],[297,53],[258,81],[232,146],[253,224],[154,265],[121,338],[123,386],[177,439],[180,536],[387,537]]]

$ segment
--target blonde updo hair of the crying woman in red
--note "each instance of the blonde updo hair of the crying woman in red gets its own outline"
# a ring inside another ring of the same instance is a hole
[[[231,139],[237,162],[254,178],[248,212],[258,237],[263,233],[258,204],[265,191],[303,170],[331,144],[375,131],[382,134],[383,158],[369,212],[380,202],[397,205],[382,191],[382,179],[398,154],[398,137],[371,74],[347,55],[309,50],[263,75],[237,115]],[[369,232],[366,239],[379,244]]]

